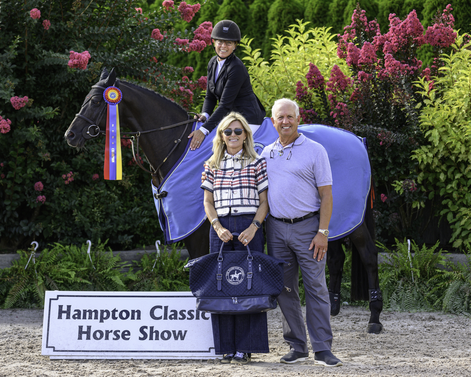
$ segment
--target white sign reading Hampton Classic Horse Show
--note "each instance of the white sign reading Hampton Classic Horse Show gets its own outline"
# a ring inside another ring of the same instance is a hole
[[[209,359],[211,314],[191,292],[46,291],[42,354],[51,359]]]

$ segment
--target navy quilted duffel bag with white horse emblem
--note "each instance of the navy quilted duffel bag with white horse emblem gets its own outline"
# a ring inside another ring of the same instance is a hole
[[[238,236],[238,233],[232,233]],[[187,263],[196,309],[214,314],[252,314],[276,308],[283,289],[281,259],[263,253],[225,251]]]

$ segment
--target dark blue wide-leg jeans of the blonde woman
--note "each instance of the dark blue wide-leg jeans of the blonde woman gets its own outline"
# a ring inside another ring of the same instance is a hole
[[[242,233],[253,221],[253,214],[219,217],[221,225],[231,233]],[[213,227],[210,229],[210,253],[219,253],[223,241]],[[251,252],[264,250],[262,229],[255,232],[249,243]],[[237,236],[225,244],[224,250],[247,250]],[[256,314],[211,314],[212,334],[216,354],[235,351],[246,353],[268,353],[267,313]]]

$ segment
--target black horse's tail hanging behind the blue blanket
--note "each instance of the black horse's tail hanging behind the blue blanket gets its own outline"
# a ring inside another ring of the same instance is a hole
[[[371,166],[371,160],[370,160]],[[375,239],[375,229],[374,229],[374,217],[373,217],[373,203],[375,197],[375,187],[373,180],[373,171],[371,172],[371,188],[370,193],[366,199],[366,210],[365,210],[365,225],[370,233],[372,240]],[[357,247],[352,245],[352,268],[351,268],[351,288],[350,288],[350,300],[369,300],[368,295],[368,275],[366,273],[365,266],[361,262],[360,254],[358,253]]]

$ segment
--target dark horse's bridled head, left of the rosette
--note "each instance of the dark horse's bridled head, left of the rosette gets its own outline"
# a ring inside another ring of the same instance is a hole
[[[102,129],[106,125],[106,102],[103,98],[103,92],[109,86],[119,86],[119,79],[116,79],[114,68],[110,74],[103,68],[100,81],[91,87],[91,90],[74,120],[65,131],[65,139],[71,147],[81,148],[85,141],[97,136],[97,126],[102,123]]]

